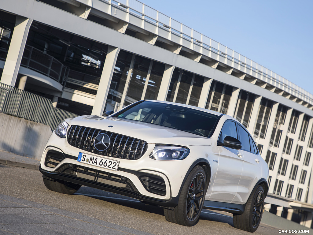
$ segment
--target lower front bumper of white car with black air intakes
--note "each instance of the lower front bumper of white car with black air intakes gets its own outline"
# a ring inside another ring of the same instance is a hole
[[[126,166],[127,164],[122,164],[125,161],[134,162],[118,160],[121,161],[120,166]],[[148,160],[156,162],[150,158]],[[136,161],[139,163],[142,160]],[[158,163],[161,162],[158,161]],[[106,170],[80,163],[77,161],[77,156],[65,154],[54,146],[47,146],[39,170],[44,177],[51,180],[64,180],[90,186],[151,204],[173,207],[178,203],[178,194],[172,196],[168,174],[154,169],[132,170],[119,167],[118,171]]]

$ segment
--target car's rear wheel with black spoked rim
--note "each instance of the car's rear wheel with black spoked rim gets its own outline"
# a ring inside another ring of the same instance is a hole
[[[234,227],[248,232],[257,230],[263,215],[264,198],[264,189],[259,185],[251,193],[244,213],[233,215]]]

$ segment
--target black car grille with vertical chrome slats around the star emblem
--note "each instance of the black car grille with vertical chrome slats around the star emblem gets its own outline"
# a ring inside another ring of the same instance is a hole
[[[98,151],[94,146],[95,137],[100,133],[107,134],[111,139],[111,144],[105,151]],[[121,159],[139,159],[147,150],[147,143],[143,140],[76,125],[69,128],[67,141],[70,145],[84,151]]]

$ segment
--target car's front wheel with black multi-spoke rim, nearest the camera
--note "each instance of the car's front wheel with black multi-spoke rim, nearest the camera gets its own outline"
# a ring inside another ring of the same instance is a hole
[[[184,226],[193,226],[199,221],[206,190],[206,175],[201,166],[196,166],[188,175],[178,205],[174,210],[164,208],[167,221]]]

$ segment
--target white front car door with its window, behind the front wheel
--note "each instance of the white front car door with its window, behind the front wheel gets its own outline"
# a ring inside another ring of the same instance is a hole
[[[226,136],[238,139],[237,126],[234,121],[224,123],[218,141],[223,141]],[[231,202],[237,193],[237,187],[242,173],[244,157],[241,150],[225,146],[217,146],[213,165],[218,164],[216,174],[212,175],[213,186],[208,189],[206,200]]]

